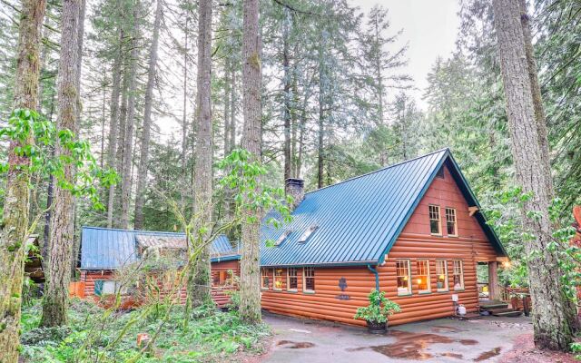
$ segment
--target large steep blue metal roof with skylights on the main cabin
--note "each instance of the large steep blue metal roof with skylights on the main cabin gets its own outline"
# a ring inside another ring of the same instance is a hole
[[[468,204],[478,205],[451,152],[431,152],[306,193],[290,223],[281,229],[262,223],[261,266],[381,263],[445,162]],[[477,214],[497,252],[506,255],[484,216]],[[272,217],[277,217],[275,212],[264,221]],[[318,229],[300,243],[311,226]],[[278,240],[286,231],[291,233],[279,246],[266,247],[267,240]]]

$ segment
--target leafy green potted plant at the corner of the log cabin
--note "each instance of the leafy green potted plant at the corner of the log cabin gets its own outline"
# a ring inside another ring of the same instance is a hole
[[[364,319],[372,334],[382,334],[388,329],[388,318],[394,312],[399,312],[399,305],[385,297],[385,291],[371,290],[369,306],[357,309],[353,319]]]

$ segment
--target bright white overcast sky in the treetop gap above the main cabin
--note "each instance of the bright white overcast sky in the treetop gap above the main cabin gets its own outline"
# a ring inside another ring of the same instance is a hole
[[[458,34],[458,0],[350,0],[364,13],[376,4],[389,9],[394,31],[403,29],[401,40],[409,43],[407,72],[418,90],[412,94],[419,101],[428,85],[426,76],[439,56],[447,58],[455,49]]]

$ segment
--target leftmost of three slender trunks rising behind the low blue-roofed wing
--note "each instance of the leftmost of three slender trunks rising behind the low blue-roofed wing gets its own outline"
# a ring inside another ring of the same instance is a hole
[[[113,61],[113,88],[111,91],[111,117],[109,121],[109,145],[107,146],[107,166],[109,168],[115,168],[115,156],[118,150],[118,136],[121,131],[119,125],[119,95],[121,93],[121,69],[123,61],[123,26],[119,25],[119,39],[117,40],[117,52],[115,54],[115,59]],[[114,201],[115,201],[115,186],[114,184],[109,187],[109,195],[107,201],[107,228],[113,227],[113,214],[114,214]]]

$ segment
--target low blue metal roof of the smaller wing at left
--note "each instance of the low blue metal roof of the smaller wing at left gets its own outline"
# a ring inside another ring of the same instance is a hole
[[[135,236],[137,235],[185,238],[184,233],[83,227],[81,234],[81,269],[114,270],[136,261],[138,256]],[[228,238],[224,235],[219,236],[212,242],[212,261],[216,259],[224,260],[226,257],[237,254],[238,251],[232,249]]]

